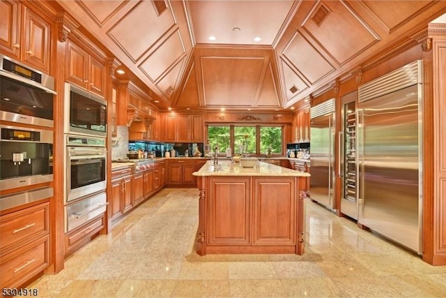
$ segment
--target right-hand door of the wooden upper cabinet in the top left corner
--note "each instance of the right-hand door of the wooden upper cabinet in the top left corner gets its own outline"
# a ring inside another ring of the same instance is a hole
[[[49,73],[50,24],[24,7],[24,25],[22,61]]]

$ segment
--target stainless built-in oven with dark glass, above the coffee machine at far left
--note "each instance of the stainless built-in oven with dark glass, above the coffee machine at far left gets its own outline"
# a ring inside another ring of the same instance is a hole
[[[53,127],[54,77],[0,55],[0,120]]]

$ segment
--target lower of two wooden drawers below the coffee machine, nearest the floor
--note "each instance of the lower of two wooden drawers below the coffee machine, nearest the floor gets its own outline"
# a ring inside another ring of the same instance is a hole
[[[49,236],[1,257],[1,288],[17,288],[49,264]]]

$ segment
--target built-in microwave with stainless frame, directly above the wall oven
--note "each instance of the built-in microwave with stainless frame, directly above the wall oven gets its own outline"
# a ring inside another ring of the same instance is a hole
[[[107,135],[107,101],[84,89],[65,83],[65,133]]]

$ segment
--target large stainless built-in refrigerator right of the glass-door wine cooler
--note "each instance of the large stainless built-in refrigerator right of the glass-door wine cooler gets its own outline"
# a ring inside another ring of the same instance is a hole
[[[358,223],[422,251],[422,61],[358,89]]]

